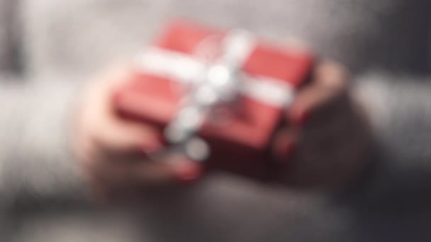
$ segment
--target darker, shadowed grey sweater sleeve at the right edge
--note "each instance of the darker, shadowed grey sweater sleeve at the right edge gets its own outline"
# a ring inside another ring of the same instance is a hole
[[[382,206],[425,201],[431,189],[431,83],[414,76],[366,74],[355,93],[379,146],[364,197]]]

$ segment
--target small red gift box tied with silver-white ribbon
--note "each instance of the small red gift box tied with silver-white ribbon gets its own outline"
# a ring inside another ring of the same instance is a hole
[[[197,89],[190,88],[194,83],[206,78],[223,83],[226,74],[240,80],[222,88],[227,96],[235,96],[234,101],[212,108],[198,129],[197,135],[211,148],[205,164],[261,179],[271,177],[269,144],[296,89],[310,74],[314,60],[310,52],[257,42],[242,30],[174,21],[137,60],[138,73],[118,92],[115,105],[121,115],[159,129],[177,117],[184,96],[196,94]],[[215,70],[211,67],[222,71],[206,75]],[[211,99],[211,93],[202,95]]]

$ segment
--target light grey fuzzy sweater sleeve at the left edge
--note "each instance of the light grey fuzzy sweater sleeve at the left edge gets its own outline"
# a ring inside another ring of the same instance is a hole
[[[86,185],[70,144],[77,85],[0,85],[1,202],[82,200]]]

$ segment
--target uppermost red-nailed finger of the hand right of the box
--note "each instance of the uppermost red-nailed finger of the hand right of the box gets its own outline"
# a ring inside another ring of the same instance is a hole
[[[324,62],[316,67],[310,86],[298,93],[289,108],[288,119],[303,125],[313,110],[342,96],[347,89],[347,71],[335,62]]]

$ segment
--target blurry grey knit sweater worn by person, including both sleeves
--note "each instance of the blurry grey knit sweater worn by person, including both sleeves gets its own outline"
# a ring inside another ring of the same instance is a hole
[[[430,13],[427,0],[0,0],[0,234],[4,241],[429,241]],[[294,36],[347,64],[381,142],[373,173],[337,197],[215,174],[139,208],[87,205],[69,150],[79,88],[177,16],[275,42]],[[16,69],[21,74],[11,75]]]

